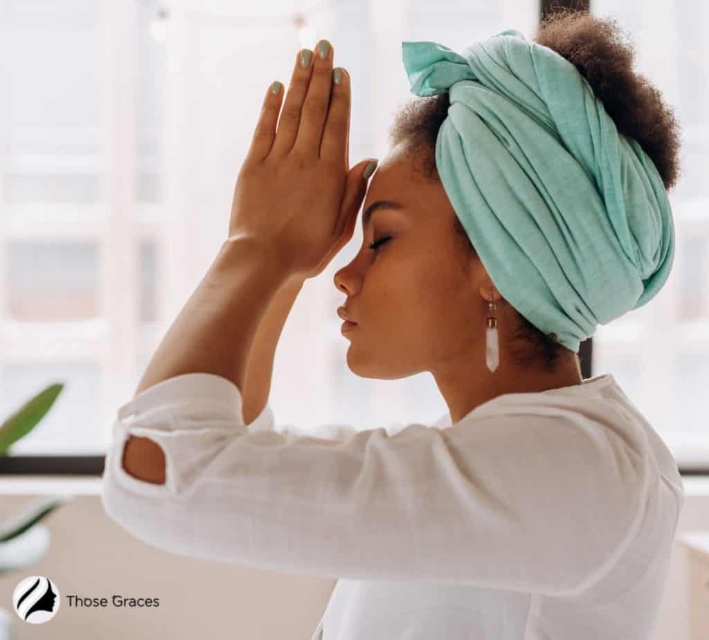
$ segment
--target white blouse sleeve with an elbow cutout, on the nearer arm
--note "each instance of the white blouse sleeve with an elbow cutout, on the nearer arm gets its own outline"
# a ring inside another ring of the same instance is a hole
[[[573,415],[471,417],[333,439],[252,425],[226,378],[184,374],[118,410],[101,500],[173,554],[324,578],[425,580],[569,595],[637,532],[646,457]],[[166,459],[164,485],[121,466],[129,434]],[[644,449],[640,448],[640,451]]]

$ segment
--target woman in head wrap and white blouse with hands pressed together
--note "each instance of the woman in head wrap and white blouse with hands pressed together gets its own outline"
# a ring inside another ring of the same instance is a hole
[[[228,240],[118,410],[108,515],[175,554],[337,578],[313,638],[649,639],[681,478],[576,352],[669,275],[678,145],[614,37],[558,13],[537,43],[403,43],[429,97],[393,128],[335,286],[352,371],[430,371],[449,414],[333,439],[277,432],[267,384],[241,392],[270,378],[300,283],[365,196],[347,76],[330,83],[330,47],[298,57],[278,130],[282,92],[264,99]]]

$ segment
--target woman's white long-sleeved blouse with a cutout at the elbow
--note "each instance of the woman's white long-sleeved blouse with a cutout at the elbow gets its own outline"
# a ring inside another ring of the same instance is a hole
[[[611,374],[455,425],[326,426],[245,426],[231,381],[169,378],[118,409],[104,509],[172,554],[337,579],[313,639],[651,638],[683,484]],[[123,469],[129,434],[164,485]]]

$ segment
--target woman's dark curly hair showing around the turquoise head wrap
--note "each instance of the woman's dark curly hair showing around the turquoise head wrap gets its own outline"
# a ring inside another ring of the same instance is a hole
[[[637,140],[669,190],[680,175],[679,123],[660,92],[632,70],[635,50],[632,43],[623,42],[622,35],[613,18],[561,8],[540,22],[532,42],[549,47],[579,69],[618,132]],[[390,144],[404,145],[415,169],[433,181],[440,181],[435,145],[449,106],[447,92],[413,99],[398,109],[389,129]],[[454,232],[463,236],[475,253],[458,218],[454,218]],[[513,358],[522,366],[542,361],[546,371],[553,371],[559,355],[569,349],[557,342],[554,333],[545,334],[519,312],[518,317],[519,327],[509,347]],[[580,371],[578,354],[576,364]]]

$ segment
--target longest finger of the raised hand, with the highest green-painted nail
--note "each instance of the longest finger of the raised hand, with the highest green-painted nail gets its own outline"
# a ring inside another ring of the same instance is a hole
[[[316,47],[315,63],[313,64],[313,77],[308,94],[303,101],[303,111],[301,113],[301,123],[298,127],[298,135],[293,145],[304,157],[318,157],[320,155],[320,140],[323,139],[323,128],[325,118],[328,117],[328,106],[330,104],[330,91],[333,86],[333,47],[330,45],[327,55],[323,58],[319,55],[320,44],[328,42],[320,40]],[[328,43],[329,44],[329,43]]]

